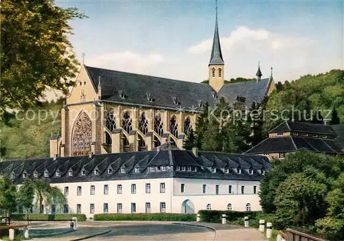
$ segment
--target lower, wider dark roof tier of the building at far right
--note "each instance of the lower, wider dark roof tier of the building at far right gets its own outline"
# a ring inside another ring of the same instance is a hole
[[[270,137],[250,148],[246,154],[265,154],[279,152],[294,152],[297,150],[310,150],[312,152],[325,152],[329,154],[344,154],[332,139],[312,137]]]

